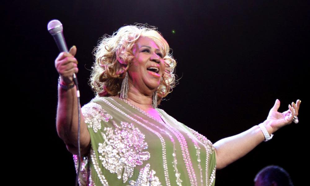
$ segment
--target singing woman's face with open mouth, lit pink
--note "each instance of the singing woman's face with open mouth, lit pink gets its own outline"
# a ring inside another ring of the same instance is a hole
[[[141,93],[156,91],[165,71],[163,54],[156,43],[147,37],[140,37],[133,48],[134,60],[128,69],[129,79]]]

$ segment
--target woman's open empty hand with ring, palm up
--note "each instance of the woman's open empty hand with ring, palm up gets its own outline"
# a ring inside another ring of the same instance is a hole
[[[276,103],[271,108],[267,117],[267,123],[272,127],[273,132],[292,123],[294,116],[298,116],[300,103],[300,100],[297,100],[296,104],[292,102],[292,105],[289,104],[289,109],[287,111],[279,113],[278,109],[280,107],[280,101],[278,99],[276,100]]]

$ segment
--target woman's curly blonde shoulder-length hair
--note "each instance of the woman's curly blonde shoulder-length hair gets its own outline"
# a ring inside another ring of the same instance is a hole
[[[90,85],[98,96],[119,94],[125,73],[134,59],[133,47],[140,37],[151,38],[160,48],[165,61],[165,73],[157,88],[157,104],[175,87],[176,61],[167,41],[155,27],[136,24],[121,27],[112,36],[104,35],[95,47]]]

